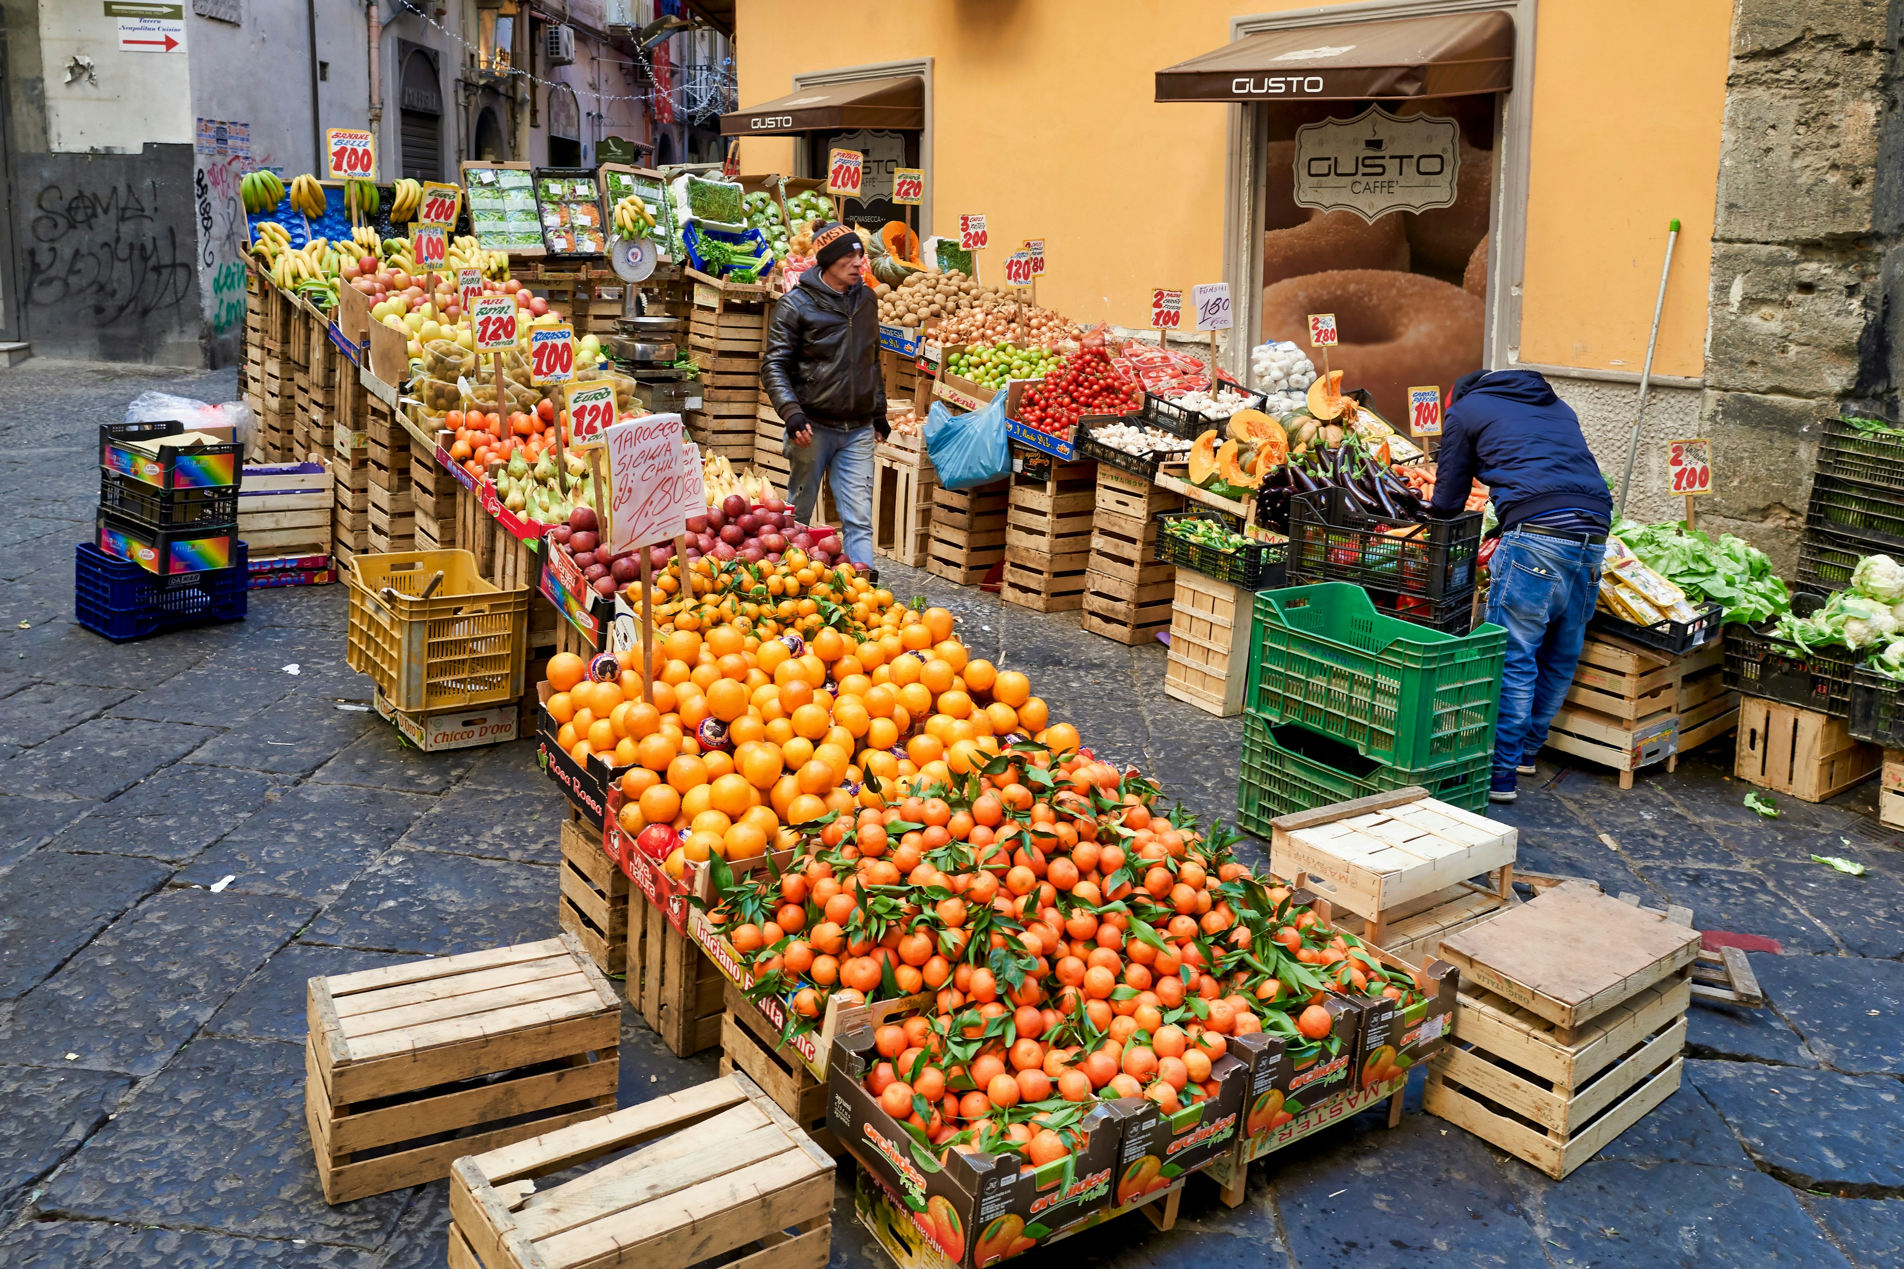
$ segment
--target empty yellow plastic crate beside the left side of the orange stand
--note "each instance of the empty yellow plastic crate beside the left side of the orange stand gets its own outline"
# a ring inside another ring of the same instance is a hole
[[[430,578],[444,580],[428,599]],[[465,550],[350,561],[345,660],[404,713],[516,700],[529,643],[529,588],[497,590]]]

